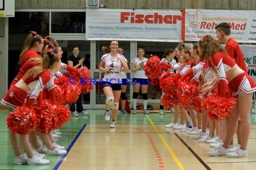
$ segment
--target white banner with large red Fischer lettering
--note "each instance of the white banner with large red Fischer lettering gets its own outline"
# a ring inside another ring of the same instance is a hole
[[[181,42],[180,10],[86,9],[87,40]]]

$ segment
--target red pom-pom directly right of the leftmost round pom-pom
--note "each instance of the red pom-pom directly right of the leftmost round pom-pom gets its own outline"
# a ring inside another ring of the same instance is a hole
[[[55,106],[49,101],[42,102],[40,107],[36,107],[36,116],[40,119],[36,130],[42,133],[49,133],[56,129],[57,114],[54,111]]]

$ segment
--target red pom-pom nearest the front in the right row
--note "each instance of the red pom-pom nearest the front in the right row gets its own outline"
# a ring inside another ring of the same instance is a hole
[[[209,96],[202,103],[203,109],[207,111],[209,119],[220,120],[230,117],[235,107],[235,98],[221,98],[220,96]]]

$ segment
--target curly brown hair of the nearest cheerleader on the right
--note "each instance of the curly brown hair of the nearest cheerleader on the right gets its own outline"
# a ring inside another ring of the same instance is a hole
[[[200,59],[209,59],[216,52],[224,52],[225,50],[221,46],[221,44],[215,39],[212,38],[211,35],[208,35],[206,38],[199,40],[199,48],[200,48]]]

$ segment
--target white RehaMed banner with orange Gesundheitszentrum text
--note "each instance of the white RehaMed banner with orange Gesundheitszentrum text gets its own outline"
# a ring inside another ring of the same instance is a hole
[[[255,10],[182,9],[182,18],[182,40],[198,41],[205,34],[216,37],[215,27],[227,22],[231,37],[238,43],[256,43]]]

